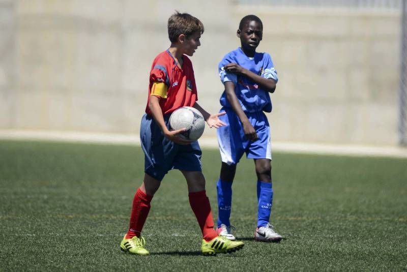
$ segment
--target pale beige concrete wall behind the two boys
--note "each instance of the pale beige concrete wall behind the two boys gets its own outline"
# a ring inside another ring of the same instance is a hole
[[[254,13],[264,23],[259,50],[280,77],[273,140],[397,143],[398,13],[230,3],[0,0],[0,129],[138,134],[151,62],[169,45],[177,9],[205,24],[192,61],[208,111],[219,110],[217,63]]]

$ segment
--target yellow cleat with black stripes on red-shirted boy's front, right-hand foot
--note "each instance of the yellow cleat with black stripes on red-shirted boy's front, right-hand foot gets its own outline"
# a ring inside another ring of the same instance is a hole
[[[243,248],[245,244],[242,241],[231,241],[222,236],[217,236],[207,242],[202,239],[202,254],[216,255],[216,253],[231,253]]]

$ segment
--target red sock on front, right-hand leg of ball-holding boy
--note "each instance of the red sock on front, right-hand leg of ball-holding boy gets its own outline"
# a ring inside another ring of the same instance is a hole
[[[211,204],[209,203],[206,191],[189,193],[189,204],[198,221],[203,239],[210,241],[217,237],[218,234],[213,228]]]

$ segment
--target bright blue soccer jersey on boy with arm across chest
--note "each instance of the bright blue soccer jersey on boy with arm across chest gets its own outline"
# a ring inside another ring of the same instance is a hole
[[[269,92],[261,89],[255,82],[247,77],[227,73],[223,67],[229,63],[236,63],[251,72],[267,79],[278,81],[277,72],[274,69],[273,61],[268,53],[255,53],[254,57],[248,57],[242,49],[227,53],[219,63],[218,71],[222,83],[231,81],[235,84],[235,93],[240,105],[245,112],[266,111],[271,112],[272,104]],[[220,104],[231,108],[226,98],[226,92],[223,92],[220,98]]]

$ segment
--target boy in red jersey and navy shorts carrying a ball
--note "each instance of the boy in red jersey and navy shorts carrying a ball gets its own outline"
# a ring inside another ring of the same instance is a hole
[[[129,230],[120,248],[122,251],[148,255],[141,230],[150,211],[150,202],[160,187],[164,175],[171,169],[179,169],[188,185],[189,203],[202,231],[203,254],[228,253],[240,250],[241,241],[230,241],[218,236],[214,230],[211,205],[205,191],[205,177],[201,171],[201,150],[197,141],[179,136],[185,129],[169,128],[172,111],[190,106],[199,110],[209,127],[219,128],[224,123],[219,116],[209,114],[197,103],[192,56],[200,46],[203,24],[187,13],[175,13],[168,19],[169,49],[157,55],[150,72],[149,97],[146,114],[142,117],[140,138],[143,149],[144,180],[133,199]]]

